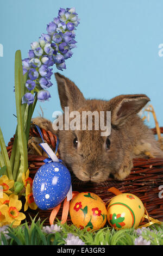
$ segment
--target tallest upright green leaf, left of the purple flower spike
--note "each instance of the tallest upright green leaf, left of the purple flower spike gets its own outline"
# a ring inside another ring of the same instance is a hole
[[[19,173],[17,175],[17,181],[22,181],[23,172],[26,173],[28,169],[28,153],[27,153],[27,140],[26,133],[24,131],[24,113],[26,110],[26,104],[22,104],[22,97],[26,92],[24,86],[23,68],[21,51],[18,50],[15,53],[15,100],[16,100],[16,114],[17,114],[17,136],[18,147],[21,154],[21,162],[19,167]]]

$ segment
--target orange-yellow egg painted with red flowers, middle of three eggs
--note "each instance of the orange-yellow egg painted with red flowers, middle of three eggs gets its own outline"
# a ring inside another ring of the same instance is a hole
[[[87,230],[103,228],[106,223],[106,206],[94,193],[82,192],[70,202],[70,217],[76,227]]]

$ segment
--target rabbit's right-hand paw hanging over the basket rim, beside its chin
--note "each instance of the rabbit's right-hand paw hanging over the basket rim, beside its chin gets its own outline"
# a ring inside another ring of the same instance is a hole
[[[114,178],[117,180],[124,180],[130,174],[132,168],[133,161],[129,161],[125,164],[123,163],[118,172],[114,174]]]

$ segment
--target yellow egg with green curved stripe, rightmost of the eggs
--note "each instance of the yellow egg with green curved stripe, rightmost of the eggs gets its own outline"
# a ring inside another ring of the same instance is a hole
[[[113,197],[107,208],[107,220],[115,229],[138,227],[144,214],[142,201],[130,193]]]

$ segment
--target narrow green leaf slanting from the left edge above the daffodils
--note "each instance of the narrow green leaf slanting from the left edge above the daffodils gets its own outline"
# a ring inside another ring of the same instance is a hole
[[[6,146],[5,146],[5,142],[4,142],[3,134],[2,134],[2,131],[1,131],[1,127],[0,127],[0,146],[1,146],[1,153],[2,153],[2,157],[3,157],[3,160],[4,160],[5,166],[7,166],[8,178],[12,180],[13,176],[12,176],[11,164],[10,164],[8,152],[7,152],[7,149],[6,149]]]

